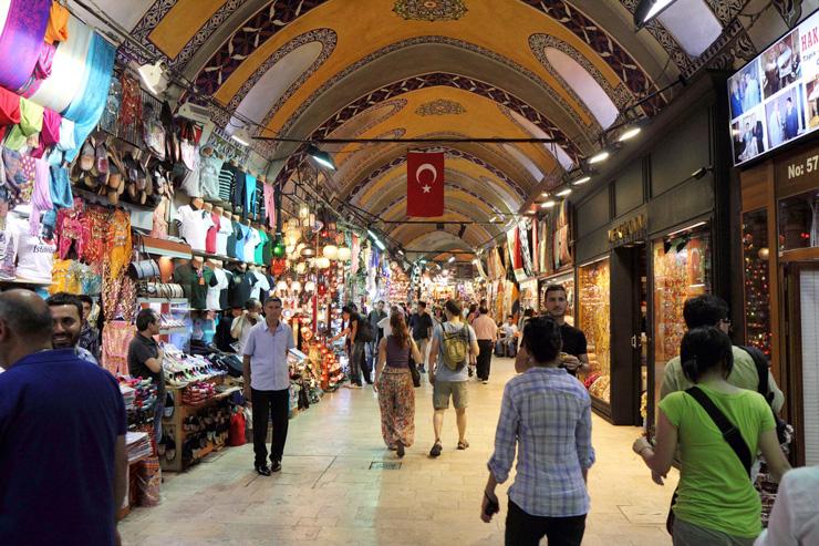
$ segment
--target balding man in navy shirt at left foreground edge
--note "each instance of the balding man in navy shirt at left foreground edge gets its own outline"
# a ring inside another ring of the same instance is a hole
[[[0,293],[0,544],[114,545],[128,464],[120,387],[51,334],[39,296]]]

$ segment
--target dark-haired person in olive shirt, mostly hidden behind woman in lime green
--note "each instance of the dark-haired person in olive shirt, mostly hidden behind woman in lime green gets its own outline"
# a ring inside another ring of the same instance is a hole
[[[719,328],[725,333],[730,333],[730,319],[728,318],[728,303],[717,296],[705,293],[695,298],[685,300],[683,307],[683,317],[685,327],[688,330],[694,328],[713,326]],[[734,368],[727,378],[728,383],[740,389],[756,391],[759,387],[759,373],[756,363],[750,353],[742,347],[734,346]],[[663,387],[660,390],[660,399],[676,391],[691,389],[693,383],[688,381],[683,372],[683,365],[680,357],[674,357],[665,364],[663,374]],[[768,371],[768,390],[774,394],[770,406],[776,413],[782,409],[785,395],[776,384],[774,375]]]

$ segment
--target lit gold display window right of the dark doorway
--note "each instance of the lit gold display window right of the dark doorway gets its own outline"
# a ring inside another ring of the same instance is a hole
[[[685,300],[711,292],[711,233],[698,230],[664,237],[652,245],[654,266],[654,404],[660,401],[663,372],[680,354],[685,334]]]

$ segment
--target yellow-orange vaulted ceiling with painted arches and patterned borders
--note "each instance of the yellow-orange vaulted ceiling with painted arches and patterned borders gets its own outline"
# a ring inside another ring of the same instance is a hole
[[[538,137],[553,144],[449,143],[440,220],[517,213],[594,152],[625,109],[678,76],[730,68],[755,47],[737,17],[747,0],[677,0],[636,32],[636,0],[95,0],[139,47],[211,95],[228,133],[252,120],[289,138]],[[696,25],[685,14],[697,16]],[[688,29],[686,30],[686,24]],[[671,92],[641,104],[652,116]],[[234,113],[238,115],[234,116]],[[474,248],[502,226],[397,224],[407,143],[323,145],[330,198],[396,224],[404,247]],[[286,184],[303,146],[260,146]]]

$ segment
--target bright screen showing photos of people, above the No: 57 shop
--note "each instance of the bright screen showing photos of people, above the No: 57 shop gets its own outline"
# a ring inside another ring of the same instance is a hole
[[[734,165],[819,128],[819,11],[728,79]]]

